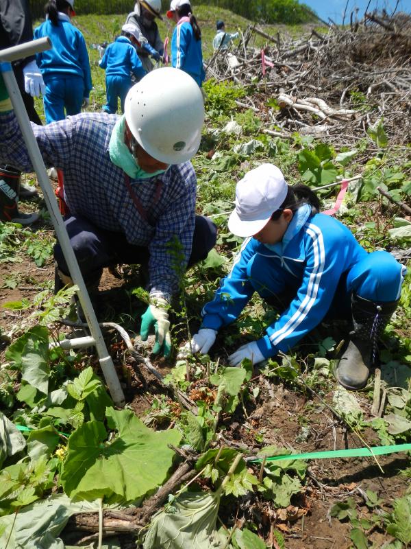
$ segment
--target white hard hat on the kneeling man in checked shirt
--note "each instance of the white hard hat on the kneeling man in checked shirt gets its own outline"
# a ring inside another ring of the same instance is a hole
[[[181,69],[163,67],[145,75],[127,93],[124,112],[136,141],[155,160],[179,164],[199,149],[203,95]]]

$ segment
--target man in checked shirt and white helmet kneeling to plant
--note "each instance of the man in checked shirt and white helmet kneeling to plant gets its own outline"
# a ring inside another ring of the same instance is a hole
[[[98,285],[104,267],[147,263],[150,305],[142,337],[156,324],[154,352],[164,355],[171,349],[167,307],[179,277],[216,241],[215,225],[195,215],[197,180],[189,162],[203,119],[195,81],[164,68],[130,89],[121,117],[82,113],[32,126],[45,165],[64,171],[65,225],[86,285]],[[33,170],[1,73],[0,161]],[[177,241],[184,259],[175,265]],[[59,244],[54,255],[69,283]]]

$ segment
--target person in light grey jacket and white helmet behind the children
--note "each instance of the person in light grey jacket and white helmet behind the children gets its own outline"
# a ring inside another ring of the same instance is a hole
[[[164,45],[160,38],[158,25],[155,18],[162,20],[161,0],[138,0],[134,5],[134,12],[127,15],[125,23],[133,25],[138,32],[145,38],[141,46],[137,47],[137,54],[142,62],[143,68],[150,72],[154,65],[149,56],[159,61],[164,54]]]

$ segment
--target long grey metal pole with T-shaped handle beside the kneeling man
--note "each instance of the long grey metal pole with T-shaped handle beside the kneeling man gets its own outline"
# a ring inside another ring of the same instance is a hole
[[[105,381],[108,384],[110,395],[112,396],[116,406],[123,406],[125,403],[123,389],[121,388],[119,377],[117,376],[116,369],[114,368],[112,358],[108,353],[107,347],[105,347],[105,342],[90,301],[90,296],[88,295],[86,284],[84,283],[82,272],[79,269],[77,259],[73,248],[71,247],[69,235],[67,234],[62,215],[58,209],[54,192],[49,181],[49,176],[47,176],[46,167],[42,160],[36,137],[34,137],[32,125],[29,121],[23,99],[21,98],[21,93],[18,89],[16,78],[12,71],[12,66],[10,65],[10,60],[16,60],[16,56],[18,56],[17,58],[24,58],[32,55],[33,52],[43,51],[50,48],[51,41],[49,38],[40,38],[39,40],[33,40],[33,42],[21,44],[17,47],[3,49],[0,51],[0,72],[3,75],[5,86],[8,89],[10,100],[14,108],[14,113],[17,117],[23,139],[27,146],[27,152],[29,153],[30,160],[32,161],[34,170],[36,171],[38,183],[42,189],[47,209],[50,213],[51,222],[53,223],[55,233],[58,241],[60,242],[60,246],[62,247],[66,263],[69,266],[71,278],[79,288],[77,292],[79,301],[82,305],[84,315],[86,316],[86,321],[90,329],[92,339],[95,342],[101,370],[103,371]]]

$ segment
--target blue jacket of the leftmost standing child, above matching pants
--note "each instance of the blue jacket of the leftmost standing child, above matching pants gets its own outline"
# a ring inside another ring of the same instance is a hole
[[[53,47],[36,54],[38,68],[45,82],[51,78],[79,76],[84,80],[84,97],[92,89],[90,62],[82,33],[71,24],[69,16],[59,13],[58,26],[47,20],[36,27],[34,38],[49,36]]]

